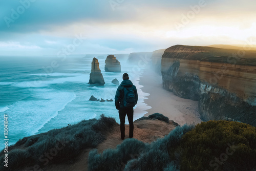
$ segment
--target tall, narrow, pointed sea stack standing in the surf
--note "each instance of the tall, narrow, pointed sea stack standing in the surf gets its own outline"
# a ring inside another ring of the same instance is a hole
[[[98,83],[100,86],[103,86],[105,84],[104,78],[99,69],[99,61],[97,58],[93,58],[93,61],[92,61],[92,71],[90,74],[89,83],[90,84]]]

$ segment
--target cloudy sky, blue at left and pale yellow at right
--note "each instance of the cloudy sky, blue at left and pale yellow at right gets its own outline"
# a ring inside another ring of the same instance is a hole
[[[0,55],[256,44],[255,7],[252,0],[1,0]]]

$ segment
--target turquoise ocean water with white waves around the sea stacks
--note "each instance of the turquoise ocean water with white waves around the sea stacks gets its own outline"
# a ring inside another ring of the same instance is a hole
[[[104,55],[106,57],[106,55]],[[117,58],[118,59],[118,58]],[[0,56],[0,115],[2,118],[1,141],[4,140],[4,115],[8,115],[9,144],[20,138],[47,132],[77,123],[83,119],[111,116],[119,123],[114,102],[89,101],[91,95],[98,99],[113,99],[117,85],[114,78],[122,81],[124,72],[138,90],[134,120],[146,114],[150,108],[144,103],[147,93],[141,91],[139,76],[143,68],[121,62],[121,73],[105,72],[105,58],[99,58],[105,85],[88,84],[91,73],[91,57],[10,57]],[[52,65],[52,66],[51,66]],[[54,68],[53,68],[54,67]],[[126,118],[126,123],[128,123]],[[4,148],[1,143],[0,148]]]

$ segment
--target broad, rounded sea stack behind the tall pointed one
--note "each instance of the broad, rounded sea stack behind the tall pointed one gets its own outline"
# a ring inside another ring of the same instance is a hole
[[[106,72],[121,72],[120,62],[114,55],[109,55],[105,60],[105,71]]]

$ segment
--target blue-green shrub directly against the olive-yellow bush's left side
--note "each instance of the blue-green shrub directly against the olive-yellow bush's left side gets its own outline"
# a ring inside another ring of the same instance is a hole
[[[138,159],[127,162],[124,170],[163,170],[168,167],[171,160],[173,160],[171,162],[173,168],[178,169],[179,162],[176,161],[176,158],[172,159],[170,156],[175,156],[174,152],[181,143],[181,137],[193,128],[194,125],[188,124],[176,127],[169,135],[152,142],[149,150],[143,153]],[[172,151],[172,154],[168,154],[169,151]]]

